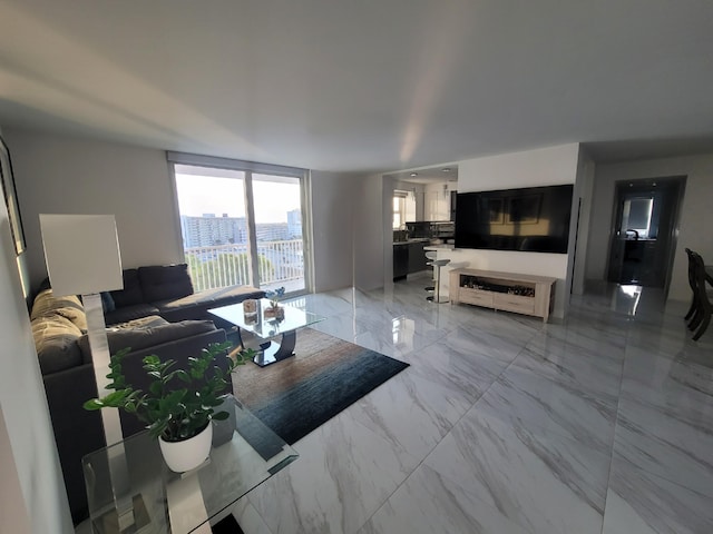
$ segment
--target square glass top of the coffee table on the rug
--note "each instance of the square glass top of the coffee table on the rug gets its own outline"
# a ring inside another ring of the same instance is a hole
[[[294,306],[290,306],[289,304],[280,304],[280,309],[282,312],[275,317],[271,315],[271,305],[268,299],[261,298],[255,303],[256,307],[254,313],[245,312],[245,301],[223,306],[221,308],[208,309],[208,313],[245,330],[252,332],[263,339],[277,336],[279,334],[293,332],[297,328],[310,326],[325,319],[325,317],[311,312],[304,312],[300,308],[295,308]]]

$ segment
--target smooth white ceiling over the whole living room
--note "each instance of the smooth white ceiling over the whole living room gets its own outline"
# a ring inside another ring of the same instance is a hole
[[[713,150],[711,0],[0,0],[0,125],[321,170]]]

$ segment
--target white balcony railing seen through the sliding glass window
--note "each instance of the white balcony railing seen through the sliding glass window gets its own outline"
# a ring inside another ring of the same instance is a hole
[[[196,291],[233,285],[252,286],[247,244],[191,247],[185,250]],[[302,239],[258,241],[260,287],[285,286],[287,291],[304,288]]]

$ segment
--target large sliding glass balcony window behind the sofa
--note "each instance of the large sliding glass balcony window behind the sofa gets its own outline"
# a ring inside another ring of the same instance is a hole
[[[311,286],[306,172],[169,152],[185,260],[196,290]]]

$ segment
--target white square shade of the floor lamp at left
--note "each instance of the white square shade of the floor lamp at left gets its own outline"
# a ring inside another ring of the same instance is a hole
[[[121,289],[121,257],[113,215],[40,214],[52,293],[90,295]]]

